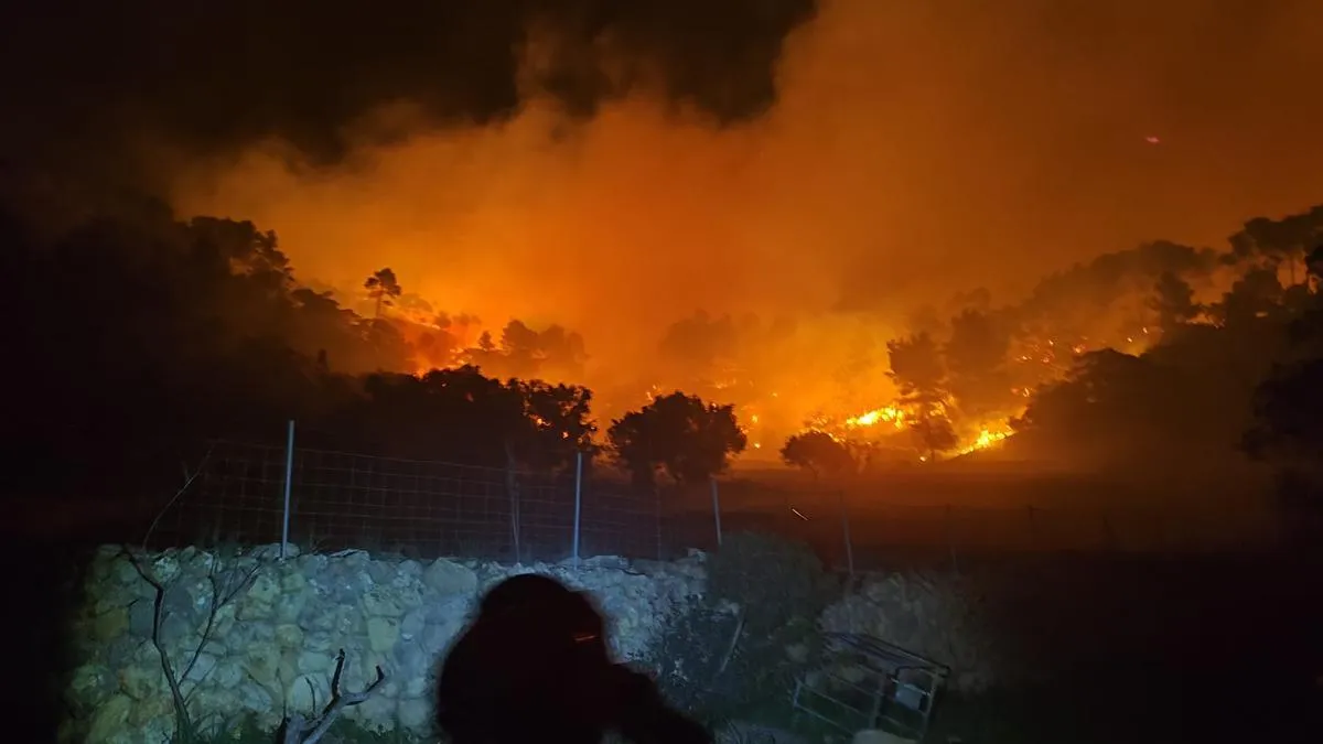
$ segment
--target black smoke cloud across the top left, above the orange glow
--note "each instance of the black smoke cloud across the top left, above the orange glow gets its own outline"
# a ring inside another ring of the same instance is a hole
[[[815,5],[49,0],[0,30],[0,126],[9,160],[103,158],[132,132],[192,154],[280,138],[327,163],[359,144],[356,119],[396,102],[434,124],[488,124],[533,94],[586,118],[647,89],[734,123],[774,102],[782,41]]]

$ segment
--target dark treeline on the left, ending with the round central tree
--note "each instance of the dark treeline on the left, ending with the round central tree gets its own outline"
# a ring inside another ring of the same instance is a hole
[[[384,312],[405,297],[389,269],[364,281],[372,310],[360,314],[300,285],[274,233],[181,222],[151,204],[54,236],[4,214],[0,242],[7,492],[161,487],[152,478],[177,481],[206,441],[270,441],[291,417],[308,446],[394,457],[554,471],[598,451],[591,393],[534,379],[582,361],[582,339],[564,328],[513,320],[464,349],[443,315]],[[401,372],[419,349],[471,364]],[[650,482],[720,470],[742,437],[730,406],[676,393],[624,416],[607,441]],[[700,440],[701,454],[681,446]]]

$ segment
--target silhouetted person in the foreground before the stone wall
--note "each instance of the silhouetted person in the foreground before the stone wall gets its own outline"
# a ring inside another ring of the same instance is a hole
[[[602,614],[537,575],[507,579],[446,657],[437,723],[454,744],[710,744],[646,675],[611,662]]]

